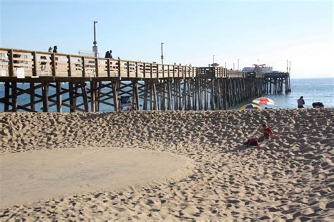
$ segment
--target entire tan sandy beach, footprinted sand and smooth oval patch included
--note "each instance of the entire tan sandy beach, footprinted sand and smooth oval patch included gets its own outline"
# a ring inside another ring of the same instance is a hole
[[[333,116],[0,113],[0,221],[333,221]]]

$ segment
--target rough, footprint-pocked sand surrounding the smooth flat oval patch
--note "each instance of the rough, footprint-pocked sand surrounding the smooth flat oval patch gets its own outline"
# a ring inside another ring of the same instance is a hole
[[[194,166],[190,174],[173,181],[14,204],[0,210],[0,220],[330,221],[333,113],[333,109],[1,113],[1,158],[55,148],[140,148],[188,157]],[[275,131],[274,138],[245,148],[242,143],[259,136],[264,122]]]

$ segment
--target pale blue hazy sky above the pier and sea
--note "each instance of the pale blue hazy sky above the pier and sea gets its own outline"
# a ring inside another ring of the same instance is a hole
[[[0,47],[240,69],[265,63],[292,77],[334,77],[333,1],[6,1]]]

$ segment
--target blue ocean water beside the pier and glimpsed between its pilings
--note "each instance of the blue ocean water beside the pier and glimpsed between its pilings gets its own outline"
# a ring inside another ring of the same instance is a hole
[[[29,84],[18,84],[18,87],[27,89]],[[67,88],[67,86],[66,86]],[[40,90],[40,89],[39,89]],[[54,93],[54,89],[50,88],[50,93]],[[42,94],[39,92],[39,94]],[[68,93],[66,93],[68,94]],[[312,103],[321,102],[325,107],[334,107],[334,78],[319,79],[291,79],[291,93],[280,95],[264,95],[276,102],[276,105],[264,106],[268,108],[297,108],[297,99],[304,97],[306,108],[311,108]],[[4,97],[4,84],[0,84],[0,98]],[[64,95],[63,98],[66,98]],[[27,94],[18,97],[18,104],[26,104],[30,102]],[[37,99],[37,98],[36,98]],[[249,102],[251,102],[250,100]],[[80,103],[80,99],[78,99]],[[244,103],[245,104],[245,103]],[[240,105],[231,107],[230,109],[239,109]],[[36,105],[39,111],[42,111],[42,103]],[[50,112],[56,112],[56,107],[49,107]],[[100,112],[110,112],[112,107],[101,104]],[[4,112],[4,103],[0,103],[0,112]],[[19,112],[22,112],[21,110]],[[63,112],[69,112],[67,107],[63,107]]]

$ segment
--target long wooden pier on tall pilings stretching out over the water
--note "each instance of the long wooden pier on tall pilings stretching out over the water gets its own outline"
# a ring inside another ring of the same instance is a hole
[[[283,85],[291,91],[288,73],[249,76],[223,67],[0,48],[4,112],[99,112],[101,105],[109,111],[227,109],[264,93],[283,93]]]

